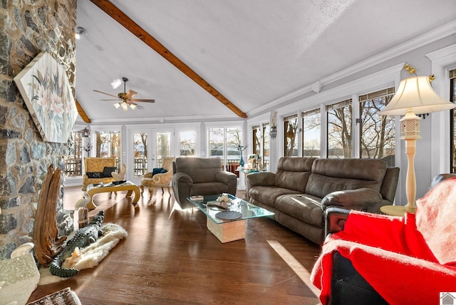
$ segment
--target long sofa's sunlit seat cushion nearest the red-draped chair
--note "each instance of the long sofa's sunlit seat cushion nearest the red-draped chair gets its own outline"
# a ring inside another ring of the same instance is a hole
[[[322,228],[323,210],[320,202],[321,198],[311,195],[282,195],[277,198],[274,207],[284,214]]]

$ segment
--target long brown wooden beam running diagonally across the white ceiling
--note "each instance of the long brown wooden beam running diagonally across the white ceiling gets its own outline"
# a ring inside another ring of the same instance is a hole
[[[136,37],[140,38],[147,46],[150,46],[153,50],[159,53],[163,58],[172,63],[173,66],[178,68],[182,73],[191,78],[195,83],[201,86],[205,91],[209,92],[214,98],[217,98],[223,105],[227,106],[234,113],[239,115],[241,118],[247,118],[247,114],[242,112],[236,105],[219,93],[211,84],[204,81],[204,79],[199,76],[195,71],[187,66],[183,61],[181,61],[177,56],[170,52],[165,46],[162,45],[157,39],[152,37],[144,29],[142,29],[138,24],[135,23],[130,17],[128,17],[123,11],[117,8],[108,0],[90,0],[93,4],[98,6],[102,11],[111,16],[115,21],[121,24],[125,29],[128,29]]]

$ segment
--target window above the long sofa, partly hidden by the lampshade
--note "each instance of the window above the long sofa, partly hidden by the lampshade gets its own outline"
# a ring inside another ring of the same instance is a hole
[[[361,157],[384,159],[388,166],[395,162],[395,117],[379,115],[393,98],[394,88],[388,88],[359,97],[361,114]]]

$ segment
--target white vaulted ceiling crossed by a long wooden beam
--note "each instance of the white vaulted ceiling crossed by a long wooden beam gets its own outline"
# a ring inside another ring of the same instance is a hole
[[[167,58],[99,7],[111,5]],[[454,0],[78,1],[76,98],[93,123],[237,120],[454,19]],[[155,103],[123,111],[93,91],[117,95],[122,77]]]

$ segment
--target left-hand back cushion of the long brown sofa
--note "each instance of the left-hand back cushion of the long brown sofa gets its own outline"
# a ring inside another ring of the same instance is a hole
[[[276,170],[276,187],[304,192],[314,157],[281,157]]]

